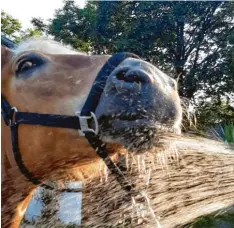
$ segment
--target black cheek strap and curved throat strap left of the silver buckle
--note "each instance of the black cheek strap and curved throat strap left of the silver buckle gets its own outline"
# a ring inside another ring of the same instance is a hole
[[[50,114],[37,114],[37,113],[26,113],[26,112],[15,112],[10,106],[4,96],[1,96],[1,112],[4,122],[11,129],[11,142],[12,151],[15,161],[20,169],[20,172],[33,184],[40,185],[48,190],[55,190],[53,186],[42,183],[37,177],[31,173],[27,167],[24,165],[18,141],[18,127],[21,124],[32,124],[32,125],[43,125],[61,128],[72,128],[79,129],[79,120],[77,116],[60,116],[60,115],[50,115]],[[13,120],[14,117],[14,120]],[[14,121],[14,122],[13,122]],[[81,192],[82,189],[56,189],[57,192]]]

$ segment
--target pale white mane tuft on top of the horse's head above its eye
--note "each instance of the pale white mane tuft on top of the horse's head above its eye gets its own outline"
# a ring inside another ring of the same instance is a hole
[[[80,54],[87,55],[84,52],[79,52],[71,46],[65,46],[59,42],[48,38],[34,37],[23,40],[13,49],[13,56],[18,56],[25,51],[40,51],[45,54]]]

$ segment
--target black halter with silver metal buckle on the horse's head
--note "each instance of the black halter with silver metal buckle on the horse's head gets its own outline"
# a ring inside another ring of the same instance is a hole
[[[4,40],[3,37],[1,41],[3,45],[12,48],[12,41]],[[11,46],[8,45],[9,42]],[[102,95],[102,92],[104,90],[108,76],[123,60],[129,57],[139,58],[135,54],[123,52],[123,53],[117,53],[108,59],[108,61],[105,63],[105,65],[98,73],[82,111],[80,113],[76,113],[76,115],[74,116],[20,112],[17,110],[16,107],[12,107],[8,103],[6,98],[2,96],[1,99],[2,116],[5,121],[5,124],[9,126],[11,129],[12,150],[14,153],[14,158],[21,173],[30,182],[32,182],[35,185],[41,185],[47,189],[51,190],[54,189],[50,185],[41,183],[41,181],[38,178],[36,178],[33,175],[33,173],[31,173],[24,165],[19,150],[19,142],[18,142],[19,124],[70,128],[70,129],[79,130],[79,134],[81,136],[86,137],[89,144],[94,148],[96,153],[103,159],[106,166],[109,168],[110,172],[116,177],[117,181],[120,183],[123,189],[126,191],[130,191],[132,189],[133,187],[132,184],[128,182],[128,180],[125,178],[125,176],[118,168],[118,166],[108,156],[106,145],[99,137],[98,122],[94,114],[96,107],[99,103],[100,97]],[[95,123],[94,129],[89,127],[92,120]],[[76,190],[68,189],[62,191],[76,191]]]

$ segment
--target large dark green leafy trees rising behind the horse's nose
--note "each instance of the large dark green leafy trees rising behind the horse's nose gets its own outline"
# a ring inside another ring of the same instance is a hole
[[[50,33],[75,48],[112,54],[131,51],[179,81],[180,95],[225,96],[227,53],[233,46],[232,2],[89,2],[79,9],[66,1]],[[205,99],[205,97],[204,97]]]

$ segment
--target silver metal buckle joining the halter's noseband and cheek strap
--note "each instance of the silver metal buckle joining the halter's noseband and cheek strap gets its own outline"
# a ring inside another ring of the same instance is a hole
[[[85,132],[93,132],[95,135],[98,134],[98,131],[99,131],[98,121],[97,121],[97,117],[95,116],[93,112],[90,112],[91,116],[81,116],[80,112],[76,112],[75,114],[78,116],[79,121],[80,121],[80,129],[78,130],[80,136],[85,136]],[[95,124],[94,129],[90,128],[88,125],[88,120],[90,119],[94,120],[94,124]]]

